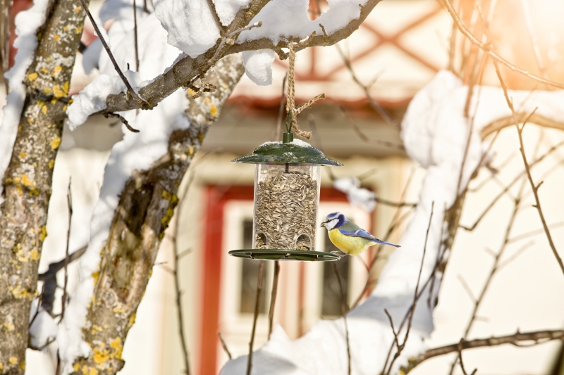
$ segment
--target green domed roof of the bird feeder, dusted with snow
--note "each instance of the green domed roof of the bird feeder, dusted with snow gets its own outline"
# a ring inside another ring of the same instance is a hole
[[[232,160],[232,163],[299,163],[342,166],[341,163],[326,158],[317,148],[300,139],[294,139],[288,143],[266,142],[251,154]]]

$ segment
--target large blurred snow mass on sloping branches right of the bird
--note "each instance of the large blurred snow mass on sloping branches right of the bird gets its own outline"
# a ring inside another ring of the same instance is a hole
[[[399,241],[401,248],[388,258],[372,295],[347,314],[353,374],[379,373],[384,367],[386,353],[393,344],[393,333],[384,309],[390,312],[398,330],[412,304],[432,205],[433,217],[420,286],[433,272],[442,240],[444,210],[453,205],[458,195],[458,178],[470,132],[470,120],[463,114],[467,92],[468,88],[453,74],[439,72],[417,93],[407,108],[402,123],[403,144],[411,158],[427,167],[427,175],[415,215]],[[515,108],[525,113],[538,107],[539,115],[564,120],[564,108],[560,105],[564,101],[564,91],[510,91],[509,94]],[[470,108],[471,115],[474,114],[474,129],[460,189],[468,183],[487,148],[480,139],[480,130],[492,121],[511,114],[503,91],[496,87],[475,89]],[[340,184],[354,186],[351,182]],[[437,274],[436,278],[438,285],[441,275]],[[434,288],[434,293],[437,289]],[[424,339],[433,331],[432,310],[424,303],[428,293],[426,288],[420,298],[423,302],[415,309],[409,341],[392,373],[408,358],[426,349]],[[400,342],[405,336],[405,326],[398,335]],[[392,356],[395,351],[392,350]],[[246,362],[246,356],[231,360],[221,374],[242,374]],[[295,341],[290,341],[283,329],[278,327],[271,340],[255,353],[252,374],[338,375],[346,374],[347,364],[345,329],[341,318],[317,322],[311,331]]]

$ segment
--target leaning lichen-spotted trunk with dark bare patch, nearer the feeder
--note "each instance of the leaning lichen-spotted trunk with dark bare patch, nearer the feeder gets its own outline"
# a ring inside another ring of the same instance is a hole
[[[100,272],[87,314],[84,335],[92,352],[75,362],[75,371],[116,374],[123,367],[123,343],[135,322],[164,230],[178,203],[180,182],[243,71],[238,55],[219,61],[215,72],[206,75],[217,91],[190,100],[186,114],[191,126],[173,132],[168,154],[125,184],[102,249]]]

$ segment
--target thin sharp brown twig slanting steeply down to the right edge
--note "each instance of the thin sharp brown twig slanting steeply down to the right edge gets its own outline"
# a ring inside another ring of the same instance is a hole
[[[446,0],[446,1],[448,1],[448,0]],[[564,273],[564,263],[562,262],[560,255],[558,255],[558,250],[556,250],[556,246],[554,246],[554,242],[552,241],[551,231],[550,231],[550,229],[548,229],[548,225],[546,224],[546,220],[544,219],[544,214],[543,214],[542,208],[541,208],[541,201],[539,199],[539,188],[541,187],[541,184],[543,182],[541,181],[541,182],[539,182],[539,184],[534,183],[533,177],[531,175],[531,168],[529,167],[529,163],[527,163],[527,155],[525,155],[525,145],[523,144],[522,132],[523,132],[523,129],[525,128],[525,125],[527,125],[527,122],[528,122],[530,116],[527,117],[525,122],[523,122],[522,127],[520,127],[519,121],[517,120],[517,114],[515,113],[515,108],[513,108],[513,103],[509,99],[507,87],[505,86],[505,82],[503,82],[503,77],[501,77],[501,72],[499,71],[499,67],[498,67],[498,64],[496,62],[494,62],[494,68],[496,68],[496,74],[497,74],[498,80],[501,84],[501,88],[503,89],[505,101],[507,101],[507,104],[508,104],[508,106],[511,110],[511,113],[513,113],[513,120],[515,121],[515,127],[517,128],[517,135],[519,136],[519,144],[520,144],[519,151],[521,152],[523,164],[525,165],[525,171],[527,172],[527,179],[529,179],[529,184],[531,185],[531,189],[532,189],[533,194],[534,194],[534,201],[536,202],[534,207],[537,208],[537,211],[539,212],[539,217],[541,218],[542,226],[543,226],[544,232],[546,234],[546,239],[548,239],[548,244],[551,246],[551,250],[554,254],[554,258],[556,258],[556,261],[558,262],[560,269]],[[536,108],[535,108],[535,110],[536,110]],[[534,114],[535,110],[533,110],[531,115]]]

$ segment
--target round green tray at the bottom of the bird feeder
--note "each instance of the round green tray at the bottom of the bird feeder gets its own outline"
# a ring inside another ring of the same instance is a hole
[[[302,260],[308,262],[332,262],[341,255],[313,250],[249,249],[231,250],[229,255],[237,258],[257,260]]]

